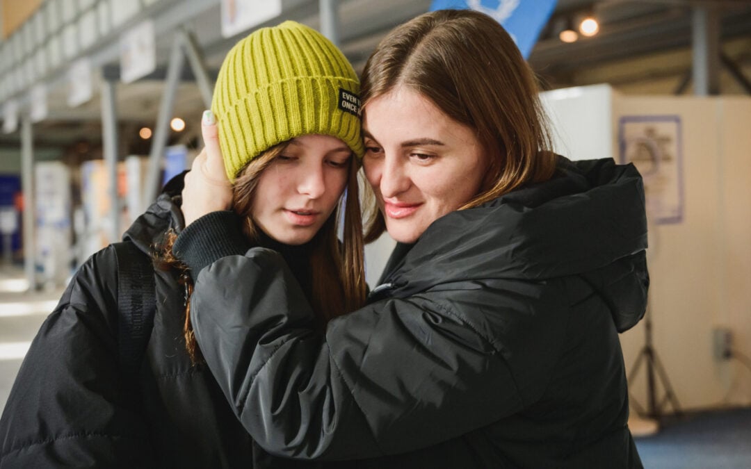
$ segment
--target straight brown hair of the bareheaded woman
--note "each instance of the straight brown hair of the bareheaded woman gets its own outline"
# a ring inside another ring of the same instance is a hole
[[[375,48],[361,77],[363,110],[400,86],[433,101],[477,132],[489,156],[481,192],[460,209],[553,176],[556,156],[535,74],[496,20],[471,10],[440,10],[397,26]],[[366,240],[385,224],[369,218]]]

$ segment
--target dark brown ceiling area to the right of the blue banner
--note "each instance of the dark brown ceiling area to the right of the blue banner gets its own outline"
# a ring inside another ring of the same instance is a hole
[[[751,80],[751,2],[749,0],[603,0],[595,2],[591,11],[600,21],[600,32],[593,38],[580,38],[566,44],[556,37],[556,21],[576,16],[592,2],[561,0],[555,14],[542,32],[529,63],[550,88],[590,84],[587,71],[628,63],[629,69],[609,68],[611,74],[597,74],[598,82],[628,88],[631,83],[650,80],[654,75],[690,75],[692,67],[693,7],[711,5],[720,19],[720,49],[728,62],[746,68]],[[662,57],[664,70],[656,71],[650,64],[653,57]],[[678,81],[680,81],[678,80]],[[736,83],[737,85],[737,83]],[[642,88],[644,89],[644,88]],[[648,89],[648,88],[647,88]],[[656,87],[654,93],[672,93],[677,89]],[[729,86],[722,92],[749,92],[740,86]]]

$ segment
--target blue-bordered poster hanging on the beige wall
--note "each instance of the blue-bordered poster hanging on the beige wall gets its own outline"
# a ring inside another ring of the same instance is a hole
[[[658,224],[683,221],[683,154],[678,116],[623,116],[618,126],[620,162],[644,178],[647,216]]]

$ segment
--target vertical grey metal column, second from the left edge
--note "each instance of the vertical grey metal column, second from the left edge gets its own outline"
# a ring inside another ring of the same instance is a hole
[[[104,164],[107,167],[107,179],[109,179],[108,191],[110,196],[110,233],[109,242],[119,241],[120,227],[120,198],[117,193],[117,161],[118,161],[118,136],[117,136],[117,112],[116,112],[116,83],[113,80],[104,79],[101,82],[101,128],[102,128],[102,152]]]

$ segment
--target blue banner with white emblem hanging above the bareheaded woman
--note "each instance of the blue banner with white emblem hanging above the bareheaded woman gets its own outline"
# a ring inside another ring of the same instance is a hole
[[[430,11],[447,8],[469,8],[493,17],[514,38],[521,55],[527,59],[556,8],[556,0],[433,0],[430,4]]]

